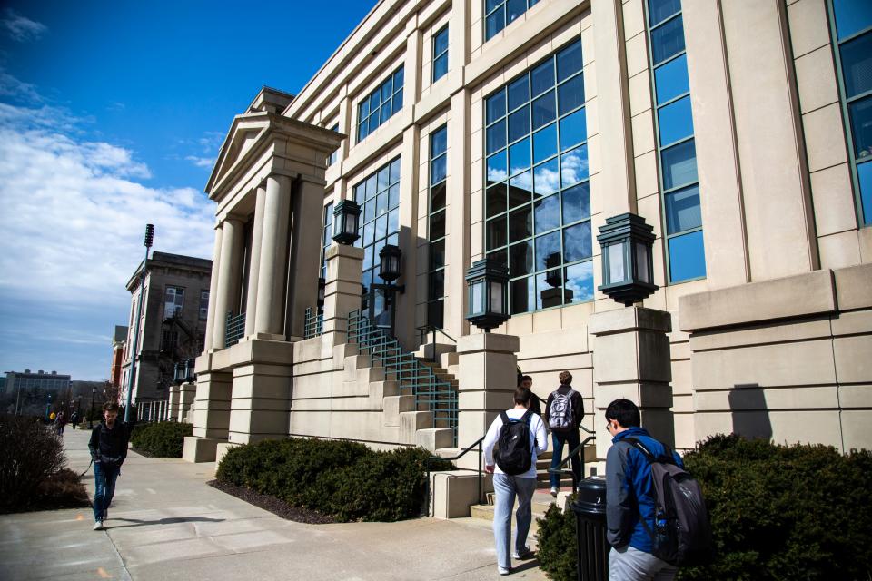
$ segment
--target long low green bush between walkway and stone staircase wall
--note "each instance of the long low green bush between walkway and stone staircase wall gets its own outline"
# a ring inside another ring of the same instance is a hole
[[[430,456],[421,448],[377,452],[342,440],[264,440],[231,448],[216,478],[340,521],[395,521],[421,513]]]

